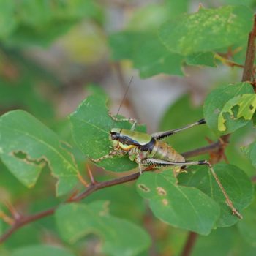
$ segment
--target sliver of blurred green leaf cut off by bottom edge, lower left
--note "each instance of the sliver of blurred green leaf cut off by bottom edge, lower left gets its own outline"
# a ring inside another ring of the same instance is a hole
[[[12,251],[12,256],[75,256],[67,249],[50,245],[31,245]]]

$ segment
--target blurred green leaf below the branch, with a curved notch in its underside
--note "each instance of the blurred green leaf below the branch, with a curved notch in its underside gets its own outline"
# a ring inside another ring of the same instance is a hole
[[[140,227],[108,214],[108,202],[71,203],[57,209],[56,223],[64,241],[74,243],[89,233],[102,238],[102,252],[108,255],[138,255],[150,244]]]

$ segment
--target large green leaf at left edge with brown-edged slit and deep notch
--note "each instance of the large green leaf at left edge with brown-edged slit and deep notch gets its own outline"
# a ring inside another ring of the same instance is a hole
[[[0,118],[0,157],[26,187],[37,182],[46,164],[58,178],[56,194],[64,195],[78,182],[78,169],[67,144],[34,116],[22,110]]]

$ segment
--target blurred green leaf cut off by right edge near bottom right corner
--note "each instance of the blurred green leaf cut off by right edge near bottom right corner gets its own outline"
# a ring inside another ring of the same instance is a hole
[[[238,230],[244,240],[251,246],[256,246],[256,197],[253,203],[244,211],[244,219],[238,222]]]

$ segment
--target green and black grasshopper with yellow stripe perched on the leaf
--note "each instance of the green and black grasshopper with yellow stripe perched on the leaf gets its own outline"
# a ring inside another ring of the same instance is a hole
[[[121,128],[111,129],[110,139],[113,143],[113,150],[110,151],[109,154],[100,157],[99,159],[91,159],[92,162],[100,162],[103,159],[111,158],[114,156],[124,156],[125,154],[128,154],[131,161],[138,163],[140,174],[143,173],[143,167],[164,168],[180,166],[181,169],[184,169],[189,165],[206,165],[217,181],[219,188],[222,190],[222,193],[226,199],[227,206],[230,207],[233,214],[242,219],[241,214],[233,206],[233,203],[228,197],[227,192],[225,192],[224,187],[222,187],[222,184],[220,183],[219,178],[217,177],[217,174],[215,173],[210,162],[207,160],[188,161],[184,159],[184,157],[176,150],[174,150],[170,145],[162,141],[163,138],[167,138],[168,136],[181,132],[184,129],[189,129],[200,124],[206,124],[204,119],[201,119],[193,124],[189,124],[185,127],[172,129],[165,132],[157,132],[152,135],[135,131],[137,121],[133,118],[121,120],[116,118],[113,119],[117,121],[134,121],[134,123],[132,124],[132,128],[130,130]]]

